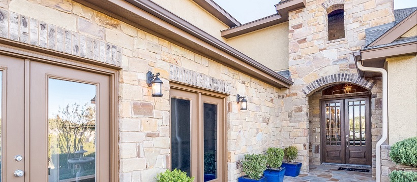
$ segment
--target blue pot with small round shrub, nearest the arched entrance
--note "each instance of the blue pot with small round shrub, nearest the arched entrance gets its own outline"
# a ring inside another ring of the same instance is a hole
[[[294,146],[289,146],[284,149],[284,156],[287,162],[282,163],[282,167],[285,167],[286,176],[295,177],[300,174],[301,163],[294,162],[294,159],[299,155],[299,151]]]

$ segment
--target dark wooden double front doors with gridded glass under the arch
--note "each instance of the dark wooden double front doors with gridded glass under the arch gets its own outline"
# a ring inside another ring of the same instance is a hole
[[[322,159],[371,165],[369,97],[321,101]]]

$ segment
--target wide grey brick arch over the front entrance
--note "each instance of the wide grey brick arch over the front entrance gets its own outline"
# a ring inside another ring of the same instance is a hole
[[[375,82],[371,79],[365,79],[360,77],[358,74],[334,74],[334,75],[328,75],[325,77],[321,77],[307,86],[303,88],[304,94],[307,96],[310,96],[317,90],[320,90],[326,86],[333,85],[335,83],[350,83],[362,86],[368,90],[371,90],[372,87],[375,85]]]

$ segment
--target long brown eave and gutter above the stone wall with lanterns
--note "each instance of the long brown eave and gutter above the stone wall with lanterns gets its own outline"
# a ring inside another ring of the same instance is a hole
[[[130,3],[128,3],[129,1]],[[105,12],[131,25],[154,33],[174,44],[239,70],[277,88],[289,88],[293,82],[249,56],[233,49],[189,22],[150,0],[91,0],[77,2]]]

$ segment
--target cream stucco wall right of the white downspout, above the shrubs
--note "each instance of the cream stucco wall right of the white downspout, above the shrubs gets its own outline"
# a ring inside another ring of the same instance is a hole
[[[389,142],[417,136],[417,56],[386,59],[388,62]]]

